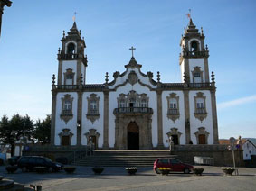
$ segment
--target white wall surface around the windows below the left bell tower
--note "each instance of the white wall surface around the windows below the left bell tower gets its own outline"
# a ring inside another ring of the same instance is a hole
[[[60,115],[62,114],[62,97],[64,95],[69,94],[73,98],[72,102],[72,113],[73,118],[68,122],[65,123]],[[71,139],[71,145],[76,145],[77,143],[77,93],[76,92],[66,92],[66,93],[58,93],[56,97],[56,122],[55,122],[55,145],[60,145],[61,140],[59,137],[59,133],[62,132],[62,129],[70,129],[70,132],[73,133]]]

